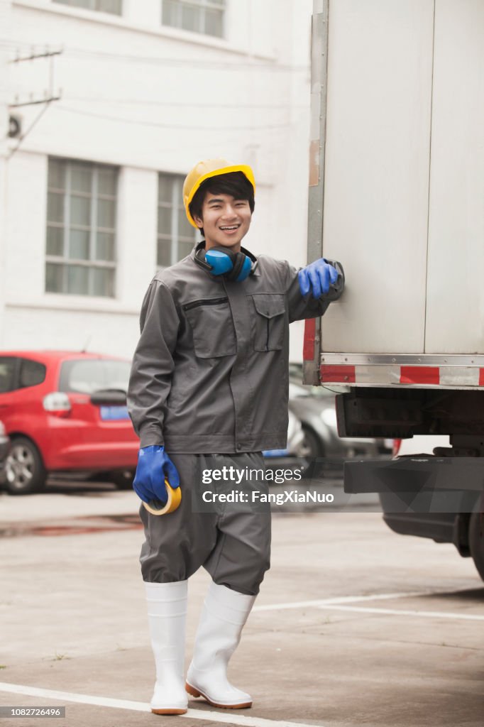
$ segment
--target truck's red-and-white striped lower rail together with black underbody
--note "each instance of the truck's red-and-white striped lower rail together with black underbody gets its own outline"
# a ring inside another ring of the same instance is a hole
[[[346,462],[344,491],[377,492],[390,529],[453,543],[484,579],[483,357],[320,353],[318,360],[318,326],[306,333],[306,382],[349,387],[336,394],[340,436],[448,435],[450,443],[432,454]]]

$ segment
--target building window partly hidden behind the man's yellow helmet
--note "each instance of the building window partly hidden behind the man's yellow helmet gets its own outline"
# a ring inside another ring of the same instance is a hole
[[[190,225],[183,206],[185,177],[158,174],[158,252],[156,264],[167,268],[193,249],[197,231]]]

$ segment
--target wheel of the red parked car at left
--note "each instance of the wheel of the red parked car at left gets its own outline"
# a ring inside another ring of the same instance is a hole
[[[47,472],[39,450],[30,439],[12,439],[5,474],[5,487],[11,495],[28,495],[44,488]]]

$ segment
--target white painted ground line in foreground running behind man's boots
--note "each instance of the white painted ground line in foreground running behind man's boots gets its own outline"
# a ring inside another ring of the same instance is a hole
[[[112,707],[118,710],[151,712],[150,705],[147,702],[132,702],[129,699],[111,699],[107,696],[76,694],[70,691],[58,691],[57,689],[41,689],[39,687],[25,686],[23,684],[0,682],[0,691],[8,692],[9,694],[39,696],[44,699],[55,699],[59,702],[91,704],[94,707]],[[185,715],[178,715],[177,719],[184,717],[192,720],[204,720],[206,722],[221,722],[228,725],[241,725],[243,727],[315,727],[314,724],[308,725],[302,722],[267,720],[262,717],[246,717],[244,715],[227,714],[227,712],[211,712],[211,710],[188,710]]]

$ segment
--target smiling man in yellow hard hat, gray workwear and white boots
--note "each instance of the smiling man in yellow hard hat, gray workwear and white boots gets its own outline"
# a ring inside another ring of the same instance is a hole
[[[254,191],[249,166],[210,159],[192,169],[185,212],[204,241],[153,278],[142,304],[128,394],[141,440],[134,489],[146,503],[181,492],[169,514],[140,510],[157,714],[186,712],[187,692],[251,706],[227,663],[269,568],[270,513],[198,512],[197,492],[204,471],[263,470],[261,451],[286,446],[289,323],[323,315],[344,285],[326,260],[298,273],[241,247]],[[200,566],[212,582],[184,683],[187,579]]]

